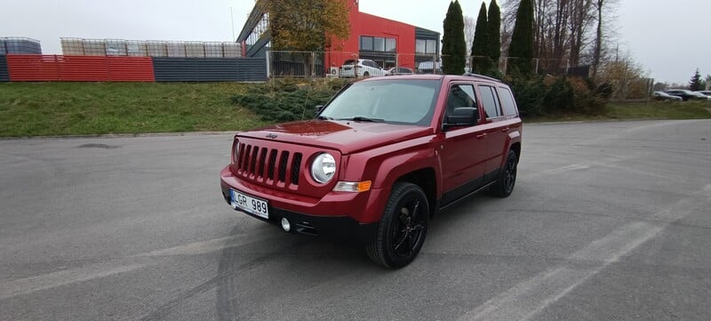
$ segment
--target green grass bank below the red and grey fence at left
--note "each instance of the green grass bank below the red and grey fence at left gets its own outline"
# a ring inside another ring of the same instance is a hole
[[[233,104],[238,83],[0,83],[0,137],[239,131],[266,122]]]

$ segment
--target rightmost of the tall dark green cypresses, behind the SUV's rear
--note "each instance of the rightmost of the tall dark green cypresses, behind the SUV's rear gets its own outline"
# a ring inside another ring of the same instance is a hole
[[[531,0],[521,0],[516,12],[514,33],[508,47],[508,68],[529,75],[533,72],[533,4]]]

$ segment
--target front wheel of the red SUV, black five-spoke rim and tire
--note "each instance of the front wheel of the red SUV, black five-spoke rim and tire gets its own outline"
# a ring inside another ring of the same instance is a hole
[[[429,204],[425,192],[411,183],[395,183],[378,231],[365,250],[372,261],[399,269],[415,259],[427,237]]]

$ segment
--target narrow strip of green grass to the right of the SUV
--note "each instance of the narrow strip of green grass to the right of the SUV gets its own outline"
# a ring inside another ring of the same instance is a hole
[[[559,122],[610,119],[708,119],[711,101],[611,102],[602,115],[547,115],[526,118],[527,122]]]

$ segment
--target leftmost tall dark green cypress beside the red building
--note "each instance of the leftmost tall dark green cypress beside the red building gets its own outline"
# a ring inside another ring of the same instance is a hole
[[[464,72],[467,44],[464,41],[464,15],[459,0],[450,3],[444,18],[442,36],[442,69],[445,74],[459,75]]]

